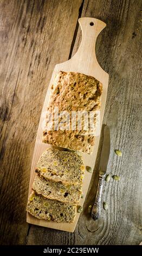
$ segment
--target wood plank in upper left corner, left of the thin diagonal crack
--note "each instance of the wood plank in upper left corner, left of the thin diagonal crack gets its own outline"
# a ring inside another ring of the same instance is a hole
[[[33,12],[33,1],[1,1],[0,10],[1,152]]]

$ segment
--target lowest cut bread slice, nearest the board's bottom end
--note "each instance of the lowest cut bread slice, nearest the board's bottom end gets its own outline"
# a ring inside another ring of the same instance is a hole
[[[36,218],[54,222],[73,222],[76,215],[76,205],[46,199],[35,192],[30,194],[26,210]]]

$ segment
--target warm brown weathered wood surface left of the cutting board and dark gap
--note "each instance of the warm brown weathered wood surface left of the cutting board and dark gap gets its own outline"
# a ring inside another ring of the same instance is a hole
[[[9,95],[12,95],[7,118],[2,120],[2,127],[6,127],[2,130],[1,150],[2,244],[26,242],[28,224],[25,206],[38,121],[54,65],[63,62],[69,56],[81,4],[81,1],[75,0],[24,1],[23,4],[19,4],[20,2],[3,1],[1,7],[8,15],[9,26],[15,27],[12,32],[9,31],[9,52],[4,65],[6,57],[2,54],[1,66],[1,82],[3,84],[3,81],[6,81],[5,87],[2,88],[2,117],[5,117],[5,106],[9,106]],[[33,8],[29,5],[33,5]],[[9,11],[14,17],[20,12],[22,18],[16,16],[15,20],[10,19]],[[29,22],[27,17],[30,17]],[[17,19],[19,20],[16,21]],[[25,19],[26,24],[28,22],[28,32],[23,45],[21,26],[25,26],[25,23],[22,23],[21,19]],[[18,45],[20,48],[17,51]],[[12,79],[12,75],[10,78],[13,70],[15,80]]]

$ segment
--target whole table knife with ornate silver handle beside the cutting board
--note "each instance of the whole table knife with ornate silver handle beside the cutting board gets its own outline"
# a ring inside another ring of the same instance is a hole
[[[107,164],[109,160],[110,144],[111,144],[110,131],[109,131],[109,127],[106,125],[104,128],[104,139],[103,139],[100,164],[99,164],[99,183],[98,183],[95,202],[94,202],[94,205],[92,208],[92,214],[91,214],[94,220],[98,220],[101,212],[102,187],[104,185]]]

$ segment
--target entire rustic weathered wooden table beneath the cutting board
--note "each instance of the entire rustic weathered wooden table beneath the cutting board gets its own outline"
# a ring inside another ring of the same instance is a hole
[[[1,244],[138,245],[141,237],[140,0],[1,0]],[[98,182],[101,142],[84,211],[74,233],[26,223],[31,159],[44,97],[55,64],[78,50],[79,17],[107,23],[96,56],[109,74],[104,124],[111,129],[108,211],[90,232],[88,205]],[[114,153],[121,149],[122,157]]]

